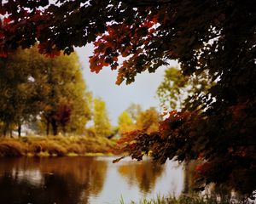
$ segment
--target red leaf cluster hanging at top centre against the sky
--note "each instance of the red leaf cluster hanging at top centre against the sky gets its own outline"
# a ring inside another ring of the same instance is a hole
[[[157,18],[148,16],[145,20],[137,20],[138,27],[122,24],[108,25],[107,31],[102,34],[96,42],[94,42],[94,55],[90,57],[90,70],[98,73],[103,66],[110,65],[112,70],[119,68],[119,76],[117,84],[124,80],[124,73],[127,70],[132,71],[132,67],[137,63],[135,59],[143,54],[143,48],[137,48],[134,53],[134,47],[137,44],[147,45],[149,39],[155,31],[154,25],[157,23]],[[128,40],[129,39],[129,40]],[[130,41],[130,42],[129,42]],[[129,42],[129,43],[128,43]],[[119,67],[118,56],[130,57],[126,59]]]

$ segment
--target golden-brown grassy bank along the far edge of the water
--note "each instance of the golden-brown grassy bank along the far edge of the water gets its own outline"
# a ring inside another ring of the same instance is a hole
[[[92,156],[107,154],[113,141],[101,137],[49,136],[0,139],[0,156]]]

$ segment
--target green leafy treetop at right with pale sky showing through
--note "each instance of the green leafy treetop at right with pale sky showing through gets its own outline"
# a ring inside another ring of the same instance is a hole
[[[201,100],[215,84],[209,80],[206,71],[201,74],[184,76],[179,68],[166,69],[163,82],[157,89],[160,105],[172,110],[184,108],[189,101]]]

